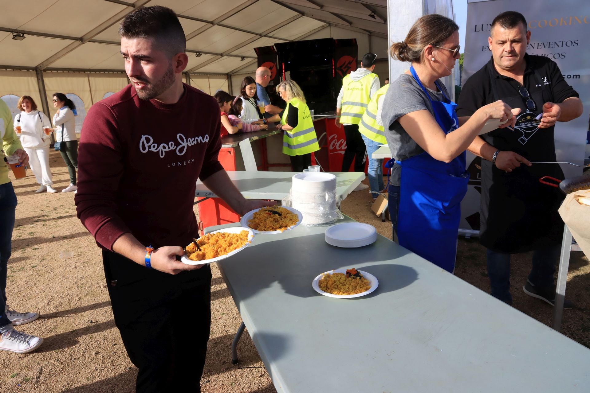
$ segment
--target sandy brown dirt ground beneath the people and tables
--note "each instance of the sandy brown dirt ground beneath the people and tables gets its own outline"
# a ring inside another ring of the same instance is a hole
[[[51,151],[50,161],[55,188],[61,191],[69,183],[67,169],[57,151]],[[114,325],[100,252],[76,218],[74,194],[35,194],[38,184],[31,171],[28,175],[12,182],[18,207],[6,292],[12,308],[41,313],[18,330],[45,341],[30,354],[0,353],[0,392],[133,391],[137,371]],[[382,223],[368,202],[367,193],[353,192],[342,210],[391,239],[391,223]],[[530,255],[513,258],[514,307],[550,325],[553,309],[522,292],[529,270]],[[248,334],[238,345],[240,363],[231,364],[231,341],[241,319],[217,265],[212,271],[211,337],[202,391],[275,392]],[[588,259],[572,252],[567,297],[577,307],[564,312],[562,332],[590,347],[588,273]],[[489,291],[484,249],[477,239],[460,239],[456,274]]]

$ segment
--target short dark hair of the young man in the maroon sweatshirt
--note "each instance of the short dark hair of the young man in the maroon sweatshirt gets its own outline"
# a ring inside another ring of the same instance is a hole
[[[155,5],[127,14],[119,25],[123,38],[153,38],[171,56],[186,51],[186,37],[176,12]]]

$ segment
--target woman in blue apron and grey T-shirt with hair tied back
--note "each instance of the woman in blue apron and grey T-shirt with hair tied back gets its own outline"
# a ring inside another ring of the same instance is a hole
[[[399,166],[391,180],[399,186],[399,245],[448,272],[455,268],[460,203],[469,180],[465,151],[487,120],[512,119],[506,125],[516,120],[502,101],[457,118],[457,105],[439,79],[451,74],[458,44],[458,26],[451,19],[419,18],[406,39],[390,48],[394,59],[412,67],[392,82],[382,113],[392,161]]]

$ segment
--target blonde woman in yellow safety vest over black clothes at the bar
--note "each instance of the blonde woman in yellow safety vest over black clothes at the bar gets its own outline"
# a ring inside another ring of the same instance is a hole
[[[277,93],[287,103],[277,126],[283,130],[283,153],[291,159],[293,171],[300,172],[312,164],[312,152],[320,150],[313,119],[296,82],[290,79],[281,82]]]

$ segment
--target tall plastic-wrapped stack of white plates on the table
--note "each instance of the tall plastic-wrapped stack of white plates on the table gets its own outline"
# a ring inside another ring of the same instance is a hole
[[[336,176],[325,172],[298,173],[291,187],[293,208],[303,214],[302,224],[333,222],[336,210]]]

